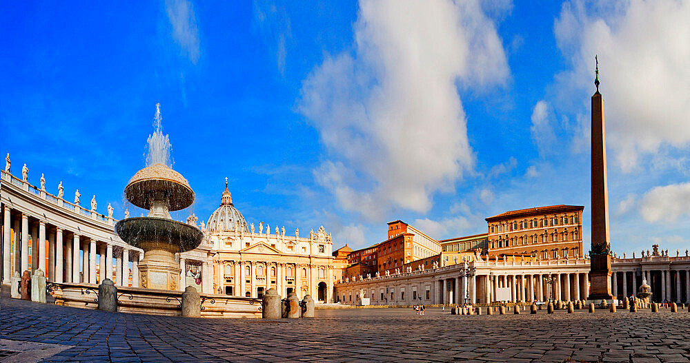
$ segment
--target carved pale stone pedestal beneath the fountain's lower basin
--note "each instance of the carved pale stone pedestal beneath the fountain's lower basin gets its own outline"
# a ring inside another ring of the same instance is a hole
[[[182,270],[170,251],[150,249],[144,251],[139,262],[139,284],[148,289],[178,290]]]

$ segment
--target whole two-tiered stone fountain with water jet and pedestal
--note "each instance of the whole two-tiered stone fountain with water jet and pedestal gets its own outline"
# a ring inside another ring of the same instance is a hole
[[[127,200],[148,209],[148,216],[120,220],[115,231],[128,244],[144,250],[144,259],[139,262],[141,287],[177,290],[181,270],[175,253],[197,248],[204,235],[197,227],[170,217],[170,211],[192,205],[194,191],[172,169],[168,135],[161,131],[160,103],[156,104],[154,120],[156,131],[148,137],[146,167],[125,187]]]

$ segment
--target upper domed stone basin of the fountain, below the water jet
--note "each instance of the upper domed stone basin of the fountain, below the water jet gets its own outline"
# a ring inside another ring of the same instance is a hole
[[[181,174],[166,165],[155,164],[132,176],[125,187],[125,197],[144,209],[151,209],[154,200],[165,200],[168,210],[177,211],[192,205],[194,191]]]

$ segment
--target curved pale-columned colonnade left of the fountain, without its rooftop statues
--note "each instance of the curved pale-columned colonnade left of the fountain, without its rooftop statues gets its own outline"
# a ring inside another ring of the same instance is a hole
[[[139,286],[138,262],[143,257],[139,251],[99,240],[80,227],[75,231],[51,224],[44,216],[32,216],[3,203],[3,284],[10,283],[14,272],[21,276],[23,271],[41,269],[48,282],[97,284],[110,276],[119,286]]]

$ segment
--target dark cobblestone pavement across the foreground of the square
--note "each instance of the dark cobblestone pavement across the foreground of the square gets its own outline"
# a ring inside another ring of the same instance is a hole
[[[689,362],[690,313],[449,315],[317,311],[300,320],[106,313],[0,298],[0,339],[63,344],[44,362]],[[1,360],[1,359],[0,359]]]

